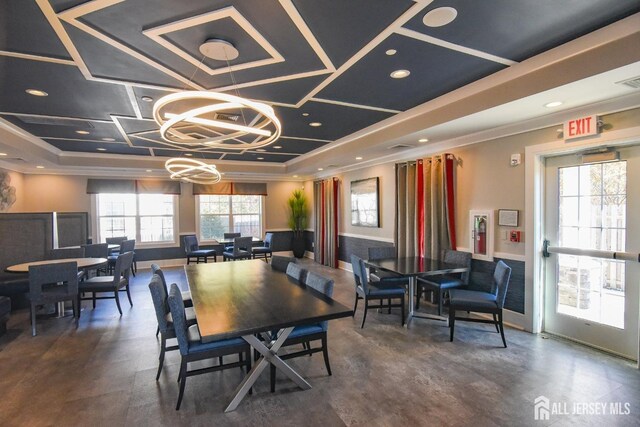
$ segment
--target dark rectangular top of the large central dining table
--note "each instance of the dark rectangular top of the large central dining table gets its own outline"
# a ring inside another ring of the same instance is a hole
[[[184,267],[202,341],[351,316],[353,311],[261,260]]]

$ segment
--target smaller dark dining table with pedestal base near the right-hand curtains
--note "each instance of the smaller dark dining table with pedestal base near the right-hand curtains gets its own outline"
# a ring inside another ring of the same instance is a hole
[[[464,273],[468,270],[468,268],[464,266],[449,264],[437,259],[424,257],[399,257],[367,260],[366,264],[370,267],[390,271],[409,279],[409,310],[407,310],[407,321],[405,322],[406,327],[409,326],[409,320],[414,317],[448,322],[447,317],[418,313],[415,311],[414,299],[417,290],[418,276]]]

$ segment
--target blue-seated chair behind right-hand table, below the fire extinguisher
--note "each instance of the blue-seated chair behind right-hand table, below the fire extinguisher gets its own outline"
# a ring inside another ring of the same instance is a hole
[[[442,259],[447,264],[466,267],[467,271],[460,274],[443,274],[441,276],[418,277],[416,289],[416,308],[420,307],[420,296],[424,291],[436,292],[438,296],[438,316],[442,316],[442,303],[445,294],[453,288],[460,288],[469,284],[469,272],[471,271],[471,253],[454,250],[446,250]]]

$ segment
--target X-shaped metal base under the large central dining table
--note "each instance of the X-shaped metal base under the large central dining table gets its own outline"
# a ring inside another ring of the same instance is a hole
[[[251,371],[249,371],[249,374],[244,378],[244,380],[242,380],[240,385],[238,385],[233,399],[229,403],[229,406],[227,406],[227,409],[224,410],[225,412],[235,411],[242,399],[244,399],[249,390],[251,390],[253,384],[258,380],[262,371],[264,371],[269,364],[278,368],[293,382],[298,384],[298,387],[301,389],[309,390],[311,388],[311,384],[309,384],[304,378],[298,375],[296,371],[291,369],[289,365],[284,363],[280,357],[278,357],[278,350],[280,350],[280,347],[282,347],[282,344],[284,344],[292,331],[293,327],[281,329],[278,333],[278,338],[275,340],[267,340],[266,344],[253,335],[242,336],[242,338],[258,353],[260,353],[262,357],[258,359],[258,362],[253,366]],[[263,336],[266,335],[263,334]]]

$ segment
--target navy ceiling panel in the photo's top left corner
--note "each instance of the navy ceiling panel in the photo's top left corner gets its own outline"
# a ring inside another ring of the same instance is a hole
[[[70,58],[40,8],[25,0],[0,2],[0,50]]]

